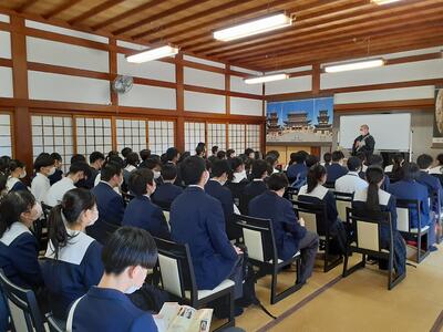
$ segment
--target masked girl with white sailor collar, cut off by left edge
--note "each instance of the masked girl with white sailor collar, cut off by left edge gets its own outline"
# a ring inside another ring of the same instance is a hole
[[[43,286],[39,245],[30,231],[42,209],[28,190],[11,191],[0,201],[0,269],[12,283],[37,290]]]

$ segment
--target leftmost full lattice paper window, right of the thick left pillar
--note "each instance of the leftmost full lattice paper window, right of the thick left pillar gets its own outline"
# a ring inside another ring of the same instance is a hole
[[[72,117],[52,115],[32,115],[32,155],[59,153],[63,158],[64,172],[68,170],[73,154]]]

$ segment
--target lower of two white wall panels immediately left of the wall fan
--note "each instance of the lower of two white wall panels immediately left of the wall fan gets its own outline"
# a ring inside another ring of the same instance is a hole
[[[31,100],[110,104],[110,82],[104,80],[28,71]]]

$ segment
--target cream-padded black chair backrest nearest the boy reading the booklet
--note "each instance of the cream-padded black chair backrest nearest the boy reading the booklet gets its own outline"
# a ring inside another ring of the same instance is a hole
[[[163,289],[181,299],[185,299],[185,291],[190,291],[190,300],[197,300],[197,286],[188,246],[154,239],[158,249]]]

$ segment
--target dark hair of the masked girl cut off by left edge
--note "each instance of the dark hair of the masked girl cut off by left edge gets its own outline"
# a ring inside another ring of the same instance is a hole
[[[28,190],[11,191],[0,200],[0,238],[20,215],[30,210],[35,205],[35,198]]]

